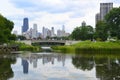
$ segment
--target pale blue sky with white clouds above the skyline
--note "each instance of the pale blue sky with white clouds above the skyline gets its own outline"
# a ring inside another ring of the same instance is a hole
[[[38,25],[38,31],[45,26],[49,29],[62,29],[66,32],[81,26],[85,21],[87,25],[95,26],[95,14],[100,10],[100,3],[113,2],[119,7],[120,0],[2,0],[0,13],[14,22],[14,29],[21,33],[23,18],[29,18],[29,27]]]

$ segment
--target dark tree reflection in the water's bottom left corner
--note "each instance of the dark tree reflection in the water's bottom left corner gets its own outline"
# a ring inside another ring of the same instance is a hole
[[[11,64],[15,62],[15,59],[0,58],[0,80],[7,80],[13,77],[14,74],[11,68]]]

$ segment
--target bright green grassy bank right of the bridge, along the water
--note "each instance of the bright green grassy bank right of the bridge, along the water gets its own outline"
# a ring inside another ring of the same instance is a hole
[[[70,46],[54,46],[52,49],[64,53],[118,53],[120,42],[82,41]]]

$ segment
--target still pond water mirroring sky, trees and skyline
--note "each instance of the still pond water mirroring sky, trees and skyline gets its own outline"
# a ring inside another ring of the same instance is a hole
[[[120,58],[50,52],[1,55],[0,80],[120,80]]]

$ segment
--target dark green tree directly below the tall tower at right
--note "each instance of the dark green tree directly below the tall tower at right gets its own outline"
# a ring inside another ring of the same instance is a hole
[[[107,40],[108,31],[107,23],[105,21],[99,21],[96,24],[95,38],[100,38],[102,41]]]

